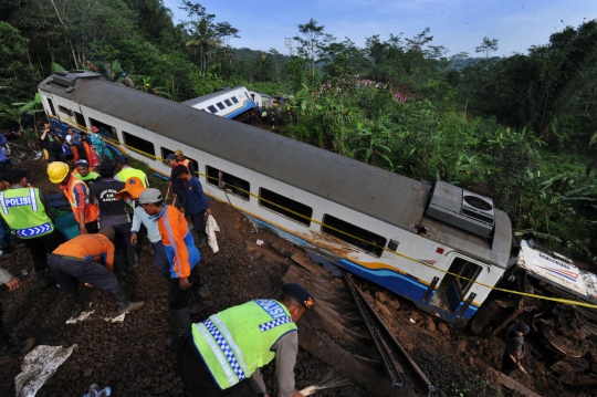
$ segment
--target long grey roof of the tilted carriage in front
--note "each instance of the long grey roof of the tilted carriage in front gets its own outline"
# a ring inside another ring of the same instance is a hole
[[[51,79],[40,84],[41,91],[98,109],[396,227],[413,231],[423,220],[431,190],[428,184],[105,80],[77,79],[75,90],[66,93],[63,85],[51,84]],[[429,219],[426,224],[433,223],[436,236],[428,237],[503,267],[509,258],[511,230],[507,216],[500,212],[496,210],[494,237],[494,240],[500,239],[498,252],[493,252],[495,241],[492,251],[489,240]],[[331,215],[342,218],[342,213]],[[366,224],[360,227],[367,229]]]

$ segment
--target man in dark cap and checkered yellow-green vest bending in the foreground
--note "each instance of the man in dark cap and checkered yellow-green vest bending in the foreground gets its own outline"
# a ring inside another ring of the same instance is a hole
[[[294,382],[296,322],[315,300],[294,283],[282,292],[279,300],[250,301],[177,330],[171,345],[187,396],[268,396],[261,367],[274,357],[277,395],[302,396]]]

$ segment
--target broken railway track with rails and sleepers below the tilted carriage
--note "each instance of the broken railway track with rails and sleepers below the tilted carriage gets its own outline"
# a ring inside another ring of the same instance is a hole
[[[304,258],[293,260],[285,282],[298,282],[315,296],[315,310],[301,321],[301,347],[364,385],[375,396],[431,396],[433,385],[373,310],[353,275],[342,278]]]

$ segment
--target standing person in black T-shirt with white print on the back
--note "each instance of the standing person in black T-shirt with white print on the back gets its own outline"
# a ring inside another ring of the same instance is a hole
[[[90,187],[91,199],[97,202],[100,208],[98,228],[112,227],[116,232],[114,245],[116,247],[115,271],[116,278],[125,276],[124,257],[128,262],[126,270],[133,270],[138,265],[135,260],[135,248],[129,242],[130,218],[124,199],[117,199],[116,194],[124,189],[125,182],[114,179],[114,164],[104,161],[100,166],[102,179]]]

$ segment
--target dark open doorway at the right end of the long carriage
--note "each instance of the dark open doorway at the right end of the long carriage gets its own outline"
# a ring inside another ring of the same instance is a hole
[[[483,268],[463,255],[451,253],[448,273],[441,280],[430,304],[454,313]]]

